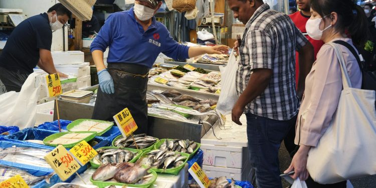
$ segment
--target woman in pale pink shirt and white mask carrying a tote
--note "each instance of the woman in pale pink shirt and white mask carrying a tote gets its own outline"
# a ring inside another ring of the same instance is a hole
[[[351,0],[311,0],[311,13],[306,24],[307,33],[312,39],[322,40],[325,44],[306,77],[305,93],[296,123],[295,144],[300,147],[285,173],[294,170],[292,177],[306,180],[309,188],[345,188],[346,181],[325,185],[314,182],[306,164],[310,148],[317,146],[332,120],[342,91],[340,64],[328,43],[340,40],[352,47],[363,46],[368,34],[366,17],[363,9]],[[352,87],[360,88],[362,76],[355,57],[345,46],[338,46],[343,53]]]

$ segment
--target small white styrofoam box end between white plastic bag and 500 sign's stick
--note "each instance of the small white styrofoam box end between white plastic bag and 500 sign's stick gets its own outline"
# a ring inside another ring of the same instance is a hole
[[[44,122],[54,121],[55,101],[46,102],[37,105],[37,113],[35,116],[35,124],[40,125]]]

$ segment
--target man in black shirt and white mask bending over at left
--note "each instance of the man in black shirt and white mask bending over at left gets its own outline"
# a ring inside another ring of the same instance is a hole
[[[61,29],[71,16],[59,3],[47,13],[26,19],[12,31],[0,55],[0,80],[7,91],[19,92],[37,65],[49,74],[58,73],[51,56],[52,32]]]

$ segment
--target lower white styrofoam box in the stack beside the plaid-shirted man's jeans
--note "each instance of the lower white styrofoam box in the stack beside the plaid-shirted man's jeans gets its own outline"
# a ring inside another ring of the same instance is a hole
[[[240,168],[226,168],[217,166],[207,166],[203,165],[203,170],[208,177],[221,177],[226,176],[228,179],[250,181],[252,182],[253,170],[251,170],[251,165],[247,164],[242,170]]]

